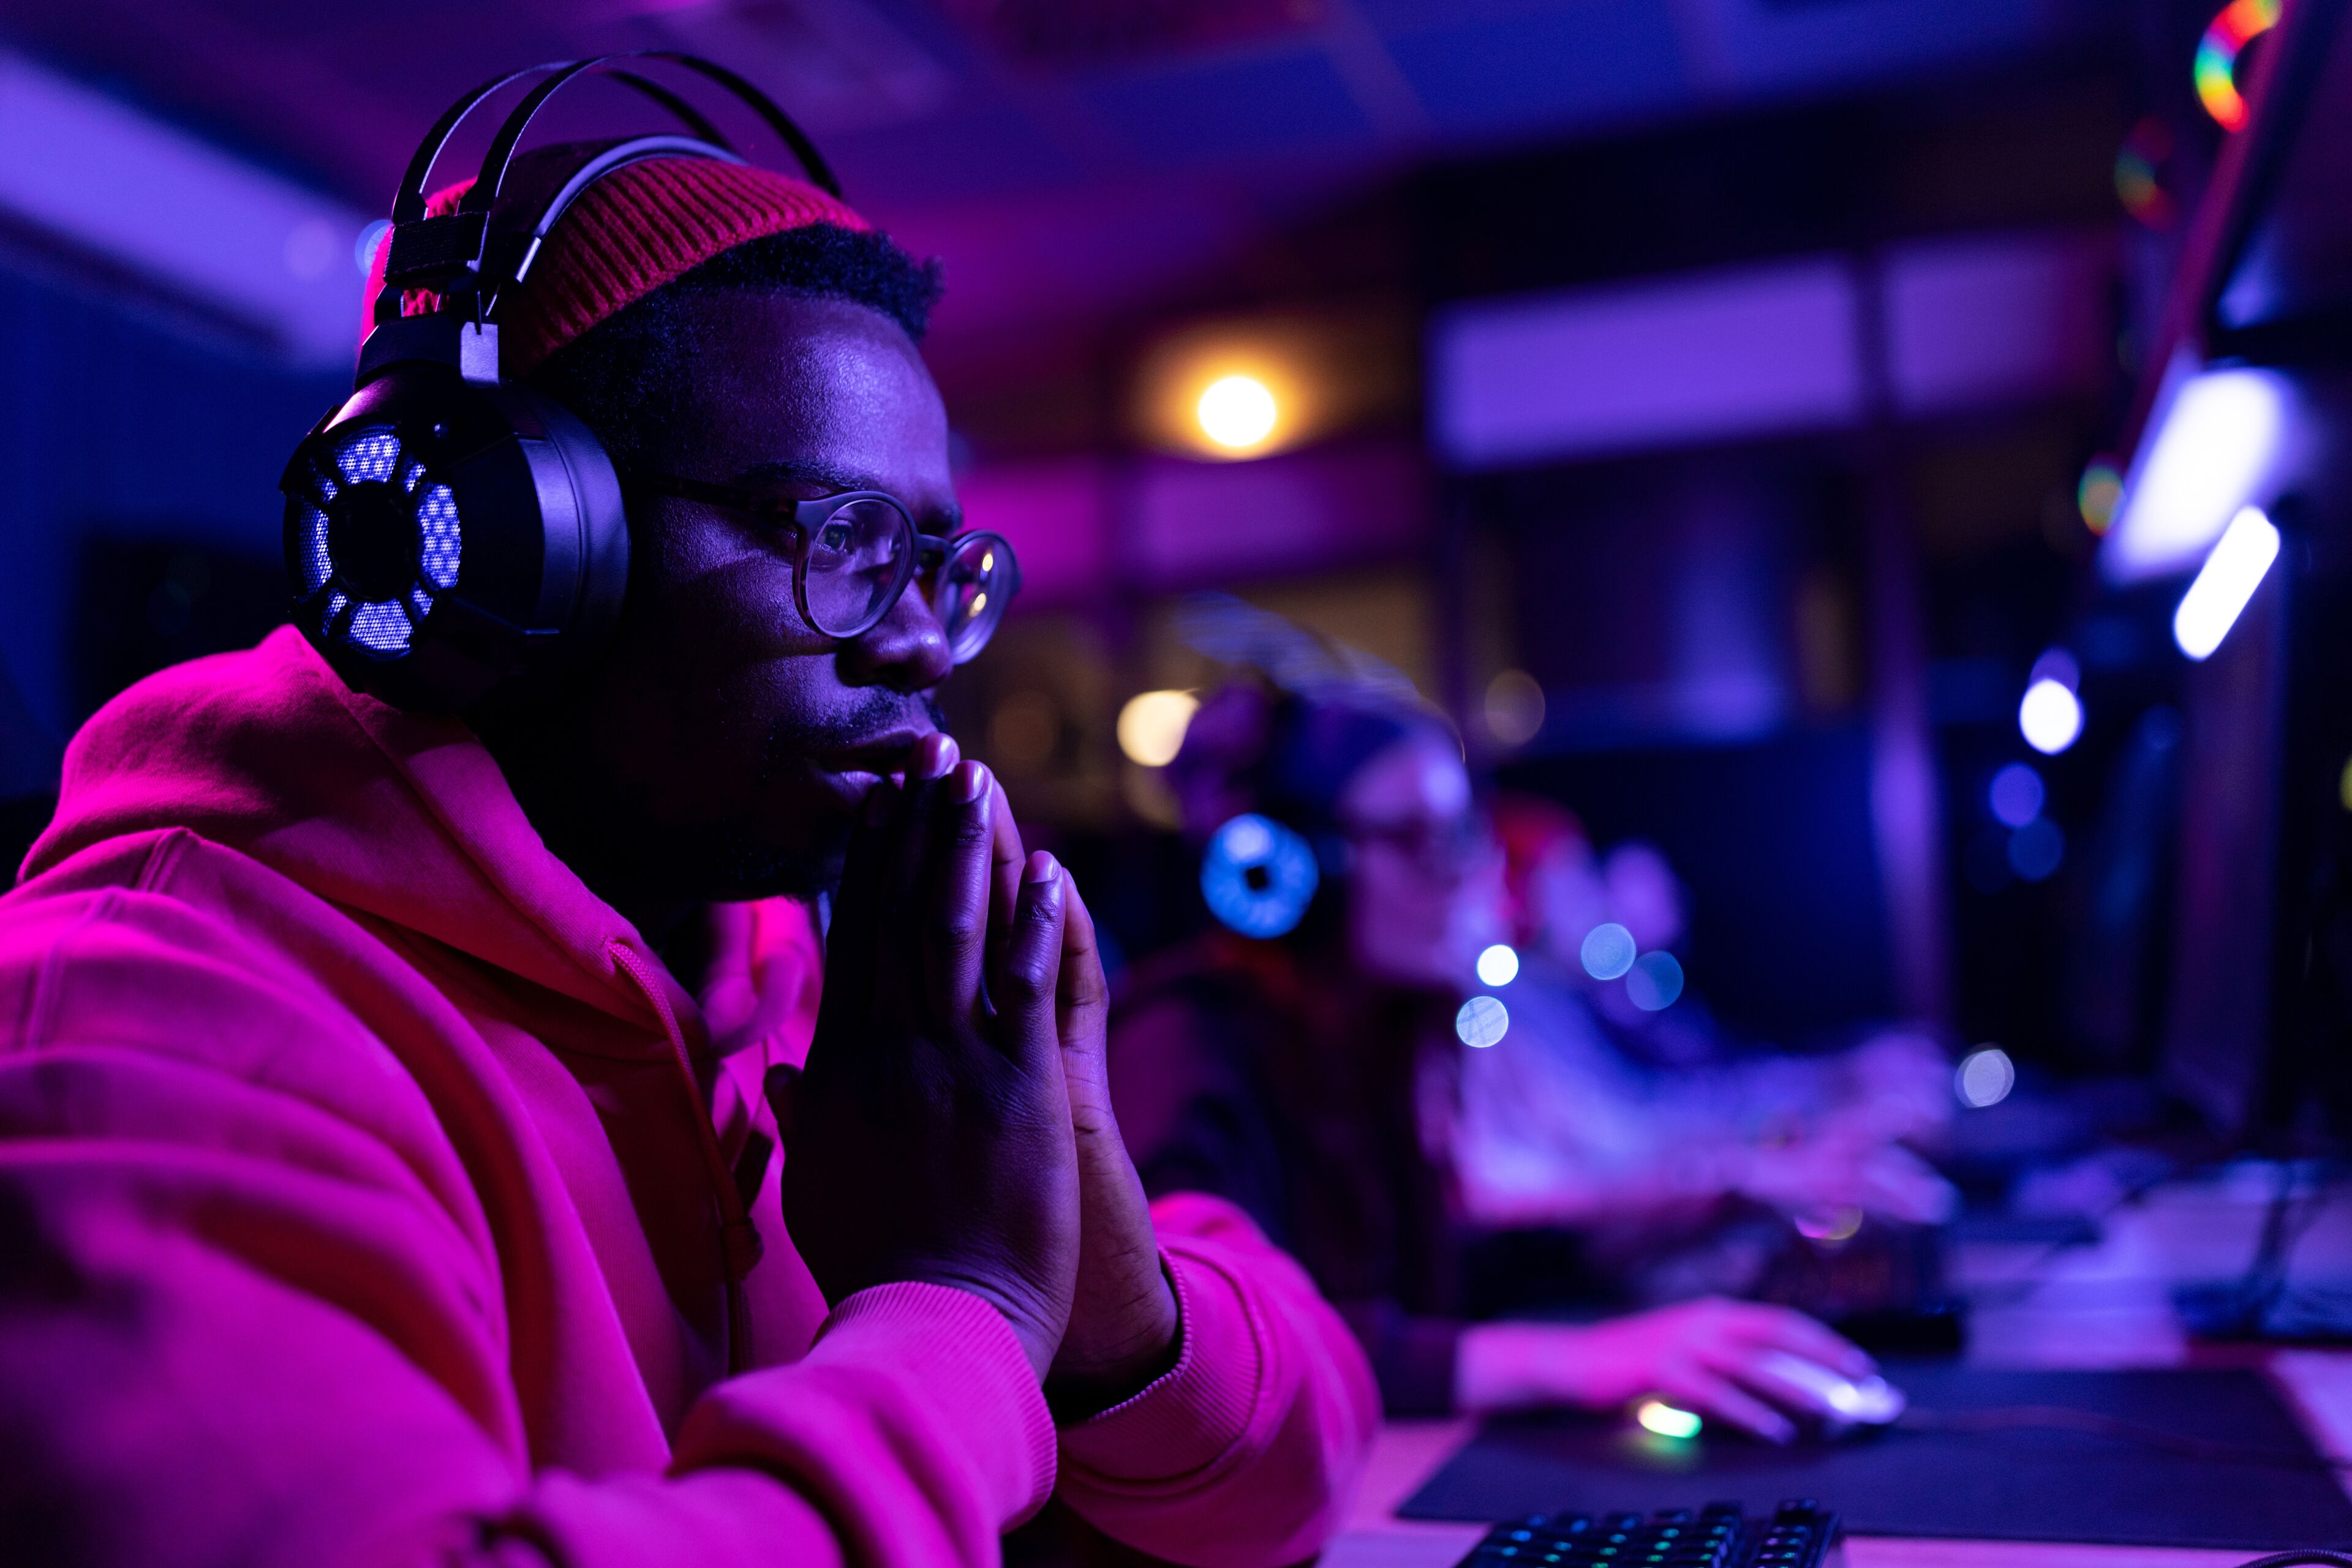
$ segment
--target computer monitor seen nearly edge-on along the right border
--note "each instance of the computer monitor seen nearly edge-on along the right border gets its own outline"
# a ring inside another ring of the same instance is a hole
[[[2263,508],[2281,541],[2220,646],[2183,679],[2180,879],[2159,1065],[2220,1138],[2274,1154],[2352,1131],[2340,1119],[2352,1081],[2347,9],[2293,0],[2270,40],[2253,118],[2223,148],[2183,247],[2105,557],[2110,578],[2187,581],[2206,550],[2197,527],[2218,531],[2223,517],[2183,524],[2159,491],[2185,494],[2232,463],[2246,494],[2211,503]],[[2166,529],[2183,527],[2192,552],[2164,562]]]

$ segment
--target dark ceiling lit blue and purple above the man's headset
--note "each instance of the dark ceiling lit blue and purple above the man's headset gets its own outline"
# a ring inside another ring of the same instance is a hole
[[[946,259],[938,353],[1183,287],[1404,162],[1933,73],[2122,0],[0,0],[0,38],[381,209],[430,118],[515,63],[722,59]],[[560,129],[560,127],[557,127]]]

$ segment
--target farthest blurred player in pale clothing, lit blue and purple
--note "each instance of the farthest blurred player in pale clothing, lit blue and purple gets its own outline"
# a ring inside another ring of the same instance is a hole
[[[1496,924],[1517,976],[1501,990],[1510,1032],[1465,1053],[1446,1131],[1472,1222],[1576,1232],[1623,1295],[1668,1300],[1750,1288],[1759,1248],[1736,1234],[1759,1215],[1846,1237],[1865,1218],[1952,1215],[1957,1192],[1907,1147],[1952,1112],[1931,1041],[1891,1030],[1820,1058],[1743,1048],[1693,992],[1630,971],[1684,936],[1663,853],[1630,842],[1597,856],[1541,797],[1498,797],[1494,823]],[[1665,973],[1682,985],[1679,964]]]

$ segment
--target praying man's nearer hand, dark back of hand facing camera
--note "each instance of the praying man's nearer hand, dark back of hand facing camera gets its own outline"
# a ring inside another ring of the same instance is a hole
[[[903,790],[875,790],[807,1070],[771,1074],[769,1098],[783,1218],[826,1300],[889,1281],[971,1291],[1044,1378],[1080,1262],[1056,1020],[1073,898],[1061,865],[1030,856],[990,919],[995,795],[948,736],[917,743]]]

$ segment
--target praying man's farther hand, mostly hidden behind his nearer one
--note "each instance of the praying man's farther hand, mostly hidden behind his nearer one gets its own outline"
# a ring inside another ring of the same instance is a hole
[[[1021,830],[1004,795],[995,795],[993,929],[1011,929],[1021,889]],[[1094,940],[1094,917],[1063,875],[1065,912],[1056,1030],[1063,1084],[1070,1091],[1070,1131],[1077,1143],[1080,1251],[1070,1328],[1047,1378],[1047,1394],[1063,1418],[1091,1415],[1143,1389],[1176,1361],[1176,1293],[1160,1267],[1143,1178],[1120,1138],[1110,1110],[1105,1037],[1110,985]]]

